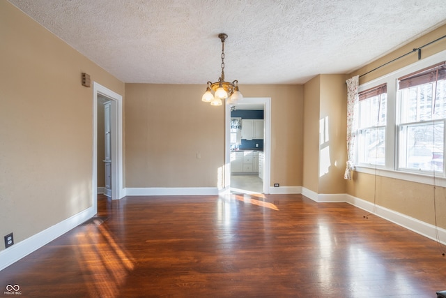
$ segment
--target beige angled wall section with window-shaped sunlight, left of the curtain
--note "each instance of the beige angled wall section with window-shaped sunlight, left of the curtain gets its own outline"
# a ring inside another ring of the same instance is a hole
[[[317,75],[304,85],[302,186],[315,193],[345,193],[345,75]]]

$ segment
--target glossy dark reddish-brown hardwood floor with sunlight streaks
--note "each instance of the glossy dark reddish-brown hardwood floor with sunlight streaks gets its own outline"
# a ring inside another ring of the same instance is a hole
[[[444,246],[302,195],[101,196],[79,225],[0,271],[21,297],[436,297]],[[7,297],[7,295],[5,295]],[[8,296],[12,297],[12,296]]]

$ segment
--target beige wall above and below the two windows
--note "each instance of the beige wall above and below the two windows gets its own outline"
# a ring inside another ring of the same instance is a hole
[[[374,69],[387,61],[391,61],[396,57],[410,52],[413,48],[420,47],[445,35],[446,26],[440,27],[385,57],[349,74],[348,77],[367,73],[367,71]],[[424,59],[431,54],[441,52],[445,49],[446,39],[440,40],[437,43],[424,47],[422,50],[422,58]],[[408,66],[409,64],[413,64],[417,61],[417,57],[417,53],[410,54],[403,59],[374,71],[373,73],[364,75],[364,77],[360,79],[360,84],[374,80],[377,77],[391,73],[392,71]],[[376,202],[376,204],[380,206],[417,218],[426,223],[435,224],[437,221],[438,226],[446,228],[446,218],[445,216],[441,216],[442,214],[446,214],[446,202],[444,200],[446,192],[445,188],[437,186],[435,190],[436,214],[437,216],[440,215],[437,218],[434,216],[434,188],[431,185],[387,177],[375,177],[374,175],[355,172],[353,180],[347,182],[346,190],[348,194],[357,198],[369,202]]]

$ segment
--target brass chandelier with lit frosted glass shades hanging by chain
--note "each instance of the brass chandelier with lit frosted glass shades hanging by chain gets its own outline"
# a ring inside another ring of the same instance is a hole
[[[238,80],[230,82],[224,81],[224,40],[228,35],[226,33],[218,34],[218,38],[222,40],[222,75],[218,78],[218,82],[208,82],[206,92],[201,100],[210,105],[222,105],[222,100],[228,98],[229,105],[235,105],[238,100],[243,99],[243,95],[238,91]]]

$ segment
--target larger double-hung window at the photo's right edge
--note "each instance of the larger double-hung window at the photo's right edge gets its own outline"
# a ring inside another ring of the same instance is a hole
[[[398,168],[445,171],[446,64],[398,79]]]

